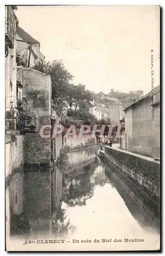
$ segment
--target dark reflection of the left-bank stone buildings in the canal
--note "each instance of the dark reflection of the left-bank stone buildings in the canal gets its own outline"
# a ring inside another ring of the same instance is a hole
[[[50,237],[52,218],[61,207],[62,174],[50,172],[15,173],[9,185],[11,234],[25,227],[25,236]]]

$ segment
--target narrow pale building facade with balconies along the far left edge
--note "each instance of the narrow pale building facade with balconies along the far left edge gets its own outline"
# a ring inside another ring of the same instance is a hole
[[[6,177],[13,168],[23,163],[22,143],[18,127],[19,105],[22,102],[22,87],[16,81],[16,6],[5,7],[5,128],[6,128]],[[22,109],[23,109],[22,108]]]

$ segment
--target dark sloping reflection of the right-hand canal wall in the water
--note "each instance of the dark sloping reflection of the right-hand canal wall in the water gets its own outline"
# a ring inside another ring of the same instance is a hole
[[[110,183],[115,187],[123,198],[127,208],[137,222],[143,226],[151,226],[159,230],[159,217],[156,209],[154,209],[146,200],[128,186],[128,184],[117,176],[109,166],[105,169],[105,174],[109,178]]]

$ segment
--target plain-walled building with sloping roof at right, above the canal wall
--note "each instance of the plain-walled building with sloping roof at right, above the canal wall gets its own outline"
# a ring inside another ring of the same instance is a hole
[[[128,106],[125,112],[126,148],[130,152],[159,158],[160,87]]]

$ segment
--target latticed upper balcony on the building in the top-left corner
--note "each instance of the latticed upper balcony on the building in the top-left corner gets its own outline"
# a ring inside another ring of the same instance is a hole
[[[9,48],[14,48],[15,17],[11,6],[5,7],[5,40]]]

